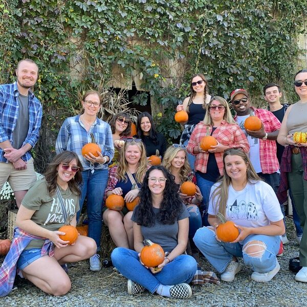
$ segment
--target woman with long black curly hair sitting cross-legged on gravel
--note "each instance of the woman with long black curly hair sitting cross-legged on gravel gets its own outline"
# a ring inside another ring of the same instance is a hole
[[[197,264],[185,255],[188,242],[189,213],[178,194],[173,176],[163,166],[147,170],[140,192],[140,203],[134,209],[134,247],[136,251],[116,248],[112,261],[128,278],[128,293],[138,294],[144,288],[166,297],[188,298]],[[158,270],[140,261],[144,239],[159,244],[167,256]]]

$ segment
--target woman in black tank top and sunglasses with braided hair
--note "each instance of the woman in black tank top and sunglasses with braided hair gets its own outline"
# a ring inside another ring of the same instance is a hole
[[[190,79],[190,95],[185,98],[182,104],[179,104],[176,111],[186,111],[189,119],[183,123],[184,130],[181,135],[180,144],[186,145],[190,136],[200,121],[205,117],[207,105],[211,99],[208,94],[208,81],[204,74],[195,74]],[[188,161],[192,169],[194,169],[195,157],[188,153]]]

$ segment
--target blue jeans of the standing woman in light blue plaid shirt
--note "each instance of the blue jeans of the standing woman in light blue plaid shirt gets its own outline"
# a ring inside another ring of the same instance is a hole
[[[90,169],[82,171],[82,185],[80,197],[80,211],[77,213],[77,220],[86,197],[86,212],[89,218],[89,237],[93,238],[97,245],[97,251],[100,250],[100,238],[102,230],[102,202],[104,190],[108,178],[108,169]]]

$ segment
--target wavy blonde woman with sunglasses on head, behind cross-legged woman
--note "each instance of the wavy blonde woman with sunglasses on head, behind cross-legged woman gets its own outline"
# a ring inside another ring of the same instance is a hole
[[[175,183],[180,186],[191,181],[196,184],[196,177],[192,172],[187,159],[187,151],[185,145],[172,144],[165,151],[162,165],[174,176]],[[202,227],[202,216],[198,205],[203,200],[203,195],[198,186],[196,186],[195,195],[188,196],[179,192],[182,201],[186,204],[189,216],[189,245],[187,253],[191,254],[196,261],[199,262],[199,252],[193,242],[193,236],[200,227]]]

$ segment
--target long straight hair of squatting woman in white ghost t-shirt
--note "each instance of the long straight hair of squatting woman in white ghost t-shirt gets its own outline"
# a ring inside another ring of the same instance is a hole
[[[224,176],[217,181],[219,185],[214,189],[211,195],[211,199],[214,200],[215,207],[214,211],[217,214],[217,207],[218,212],[222,213],[224,216],[226,214],[226,204],[228,200],[228,188],[231,184],[231,178],[228,176],[225,167],[225,158],[227,156],[239,156],[243,159],[247,166],[246,171],[246,181],[250,184],[255,184],[255,181],[260,181],[260,177],[257,175],[250,159],[248,158],[247,154],[240,148],[230,148],[224,151],[223,155],[223,163],[224,163]]]

